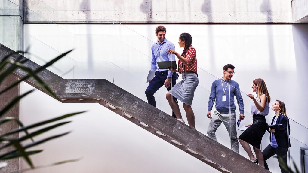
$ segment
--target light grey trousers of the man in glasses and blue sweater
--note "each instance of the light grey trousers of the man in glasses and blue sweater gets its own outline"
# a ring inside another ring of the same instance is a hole
[[[230,117],[231,117],[231,122],[230,122]],[[215,141],[217,141],[215,132],[217,128],[221,125],[221,123],[224,123],[229,133],[232,150],[239,153],[237,131],[236,131],[236,113],[222,114],[215,110],[214,114],[212,115],[212,119],[210,121],[208,128],[208,136]]]

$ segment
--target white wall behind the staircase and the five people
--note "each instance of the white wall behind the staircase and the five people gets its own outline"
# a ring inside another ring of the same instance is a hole
[[[125,90],[146,101],[144,91],[148,84],[145,83],[145,80],[148,70],[150,68],[150,47],[153,41],[156,41],[156,26],[157,25],[26,25],[26,34],[29,34],[30,36],[26,38],[25,44],[32,45],[33,43],[34,45],[38,46],[39,49],[36,49],[35,46],[31,46],[30,52],[38,54],[41,57],[46,57],[47,54],[45,52],[51,51],[52,54],[47,55],[47,59],[52,58],[55,54],[59,52],[64,52],[65,50],[74,47],[75,50],[73,54],[68,55],[68,57],[62,60],[62,62],[59,62],[57,65],[55,65],[55,67],[50,68],[50,70],[54,71],[58,75],[63,76],[64,78],[106,78],[111,82],[114,82],[116,85],[124,88]],[[270,105],[274,103],[276,99],[282,100],[286,103],[287,113],[289,117],[301,123],[305,127],[308,126],[307,117],[302,116],[305,115],[304,112],[306,112],[305,106],[303,105],[305,105],[305,100],[307,97],[307,94],[304,92],[306,82],[305,80],[302,80],[305,78],[307,69],[306,67],[308,65],[306,60],[306,57],[308,55],[307,25],[164,26],[166,26],[167,28],[167,38],[175,44],[176,50],[178,52],[182,51],[182,49],[180,49],[177,44],[179,34],[182,32],[188,32],[193,37],[193,46],[196,48],[198,67],[200,67],[198,68],[200,83],[197,87],[195,98],[193,101],[193,110],[196,115],[196,129],[198,131],[206,134],[206,130],[209,124],[209,119],[206,118],[207,102],[209,98],[209,90],[211,83],[213,80],[216,79],[212,76],[212,74],[220,78],[222,76],[222,67],[227,63],[231,63],[235,66],[236,74],[234,75],[233,79],[240,84],[242,95],[244,97],[246,118],[243,123],[250,123],[252,121],[252,116],[249,114],[250,105],[252,104],[252,102],[251,99],[249,99],[245,95],[252,93],[251,85],[253,79],[263,78],[267,84],[272,98]],[[128,27],[132,30],[130,30]],[[137,33],[140,33],[144,37],[138,35]],[[38,58],[34,58],[34,60],[40,61],[40,63],[42,63],[42,61]],[[64,70],[63,67],[65,67]],[[71,68],[73,68],[72,71],[68,71],[66,74],[62,75]],[[27,86],[23,87],[28,88]],[[166,90],[163,88],[161,88],[156,93],[155,96],[157,106],[161,110],[170,114],[171,110],[164,97],[165,94]],[[33,106],[33,104],[31,103],[34,100],[39,100],[39,102],[35,104],[35,106]],[[50,103],[48,105],[45,105],[46,103],[44,103],[43,105],[38,107],[37,105],[41,104],[42,100]],[[145,151],[147,153],[146,155],[150,155],[153,153],[157,154],[156,151],[152,153],[153,147],[160,146],[158,148],[163,150],[163,152],[156,155],[157,158],[147,157],[147,159],[140,159],[136,161],[140,163],[138,165],[142,165],[144,167],[126,167],[126,171],[129,170],[136,172],[137,169],[137,171],[141,172],[143,170],[153,167],[153,170],[151,169],[146,171],[162,172],[162,166],[166,167],[164,169],[168,169],[168,171],[171,172],[175,172],[175,169],[179,169],[176,170],[176,172],[187,172],[189,169],[193,168],[195,168],[196,170],[191,172],[198,172],[209,169],[204,163],[201,163],[197,159],[192,158],[192,160],[187,160],[191,157],[184,156],[185,153],[178,152],[177,149],[174,149],[174,151],[170,151],[171,149],[169,149],[167,143],[158,144],[158,141],[161,140],[154,139],[155,137],[151,139],[153,140],[153,142],[151,142],[152,144],[142,144],[143,141],[147,140],[138,139],[151,138],[148,136],[152,135],[143,132],[142,129],[139,130],[139,128],[137,127],[136,131],[133,133],[133,136],[136,138],[134,138],[133,140],[127,139],[126,135],[121,134],[123,133],[122,131],[119,132],[116,130],[117,128],[113,128],[118,127],[118,123],[122,123],[122,120],[120,120],[121,118],[117,115],[111,116],[114,115],[112,112],[99,107],[99,105],[60,104],[57,101],[53,101],[48,96],[36,92],[35,97],[31,96],[30,98],[29,96],[28,101],[22,101],[21,116],[23,121],[25,121],[25,123],[37,121],[37,117],[29,117],[29,115],[34,115],[37,111],[43,112],[46,109],[45,106],[50,107],[50,105],[53,105],[53,107],[59,107],[57,108],[57,112],[47,111],[48,114],[38,114],[40,118],[46,119],[47,117],[59,115],[63,112],[77,111],[77,109],[83,109],[83,107],[87,110],[90,110],[90,112],[88,112],[86,115],[79,116],[82,117],[80,118],[81,120],[79,120],[79,118],[74,119],[74,122],[77,121],[77,124],[73,123],[73,125],[71,125],[68,129],[78,129],[78,131],[74,132],[74,135],[71,134],[69,140],[70,143],[65,142],[66,145],[70,144],[75,146],[76,141],[79,140],[78,136],[86,136],[91,134],[92,130],[87,127],[93,127],[93,125],[91,125],[92,123],[104,123],[105,121],[109,122],[109,126],[102,125],[95,128],[95,130],[98,130],[100,132],[97,132],[97,135],[91,135],[92,137],[89,137],[87,142],[77,142],[78,146],[75,147],[78,152],[75,152],[74,154],[68,153],[65,154],[65,156],[77,157],[76,154],[83,153],[84,155],[86,155],[85,157],[89,159],[89,162],[96,162],[97,160],[94,160],[93,158],[97,158],[97,155],[95,155],[95,153],[92,154],[91,152],[87,151],[89,150],[88,143],[93,143],[94,147],[102,146],[100,148],[95,148],[99,150],[98,152],[101,153],[106,152],[106,148],[108,148],[108,151],[116,151],[119,149],[119,147],[110,148],[114,145],[108,145],[108,143],[97,141],[97,136],[104,136],[101,140],[108,141],[111,140],[113,136],[117,135],[117,138],[120,141],[125,140],[124,143],[134,143],[134,145],[137,145],[139,147],[142,146],[142,148],[144,149],[140,151],[140,149],[137,149],[138,147],[136,147],[133,152],[135,156],[133,157],[133,154],[127,153],[130,151],[128,149],[125,149],[124,146],[122,146],[123,150],[121,150],[120,153],[127,156],[129,155],[129,160],[133,158],[137,159],[145,157]],[[182,108],[181,111],[184,115],[184,110]],[[104,112],[106,115],[98,115],[98,112]],[[270,123],[270,120],[273,115],[274,112],[270,111],[270,115],[267,117],[268,123]],[[88,117],[93,117],[95,119],[95,122],[89,120]],[[79,121],[81,121],[83,124],[78,125]],[[133,127],[134,125],[132,125],[131,127],[131,125],[129,124],[130,123],[128,122],[123,122],[123,124],[121,124],[120,126],[127,126],[127,129],[125,130],[126,132],[132,131],[135,127]],[[79,128],[83,128],[83,130],[80,131]],[[110,130],[111,128],[113,130]],[[112,133],[112,135],[105,133],[100,134],[103,133],[102,131],[107,130],[109,133]],[[300,127],[296,125],[296,123],[291,122],[291,135],[294,136],[296,139],[300,141],[307,141],[308,139],[306,136],[300,136],[300,134],[303,134],[307,131],[308,130],[306,128]],[[146,137],[144,137],[143,135]],[[238,135],[240,135],[240,132]],[[104,140],[104,138],[108,138],[108,140]],[[223,125],[217,130],[217,138],[225,146],[230,146],[228,140],[229,137]],[[64,137],[63,140],[66,140],[66,138]],[[291,140],[291,142],[292,147],[290,154],[294,156],[294,159],[296,159],[298,163],[298,147],[303,145],[293,139]],[[268,143],[269,138],[268,134],[266,134],[262,141],[263,147],[266,147]],[[54,141],[53,146],[60,144],[64,144],[64,142],[60,140],[59,142]],[[44,148],[50,148],[48,146],[50,146],[50,144],[46,144],[46,147]],[[65,148],[66,147],[63,147],[62,150],[66,150]],[[55,150],[52,150],[50,152],[58,152],[56,151],[56,148],[54,149]],[[245,151],[242,148],[240,152],[242,155],[247,157]],[[183,155],[178,156],[180,155],[179,153],[183,153]],[[100,170],[100,168],[108,170],[113,167],[117,167],[112,165],[126,163],[127,160],[119,158],[121,157],[119,153],[115,153],[115,155],[119,155],[119,157],[115,157],[111,154],[109,154],[107,157],[103,156],[103,154],[101,155],[102,156],[100,156],[98,160],[104,160],[108,158],[108,164],[110,166],[108,168],[107,166],[102,168],[102,165],[100,165],[99,163],[93,163],[93,166],[96,170]],[[169,157],[169,155],[176,155],[176,157],[174,158],[169,158],[169,160],[172,160],[170,161],[172,163],[169,163],[168,161],[162,161],[160,163],[160,166],[153,165],[153,163],[157,163],[158,160],[161,161],[161,158]],[[49,161],[51,162],[51,160],[47,158],[42,158],[47,156],[48,153],[45,156],[38,156],[35,161],[38,161],[42,164]],[[59,154],[57,157],[60,156],[63,157],[64,155]],[[91,160],[90,158],[92,158],[93,160]],[[148,160],[149,158],[153,158],[153,160]],[[119,159],[121,159],[121,161],[119,161]],[[174,159],[176,159],[176,161],[174,161],[174,164],[185,165],[185,168],[187,168],[187,170],[177,168],[177,166],[168,167],[167,165],[173,164]],[[168,164],[165,164],[166,162],[168,162]],[[183,163],[177,164],[177,162]],[[79,167],[76,168],[76,170],[86,169],[86,163],[87,160],[85,159],[85,161],[78,163],[78,166],[74,165],[70,168],[75,169],[75,167]],[[277,160],[272,159],[270,163],[270,170],[273,172],[279,172]],[[198,165],[192,166],[193,164]],[[112,172],[120,172],[120,170],[112,170]]]

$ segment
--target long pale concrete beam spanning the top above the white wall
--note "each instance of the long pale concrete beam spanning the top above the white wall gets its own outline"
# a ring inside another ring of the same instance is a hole
[[[27,22],[290,23],[290,0],[28,0]],[[33,14],[35,12],[35,14]]]

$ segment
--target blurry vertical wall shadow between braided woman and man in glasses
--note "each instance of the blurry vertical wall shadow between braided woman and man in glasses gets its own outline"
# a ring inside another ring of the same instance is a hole
[[[212,14],[212,4],[211,4],[211,0],[205,0],[204,3],[201,6],[201,11],[202,13],[204,13],[208,18],[205,19],[207,20],[209,23],[213,22],[213,14]],[[213,65],[213,67],[216,67],[216,63],[215,63],[215,53],[214,53],[214,39],[213,39],[213,26],[212,25],[208,25],[208,35],[209,38],[207,39],[209,42],[209,56],[210,56],[210,64]],[[208,71],[210,71],[212,69],[208,69]]]

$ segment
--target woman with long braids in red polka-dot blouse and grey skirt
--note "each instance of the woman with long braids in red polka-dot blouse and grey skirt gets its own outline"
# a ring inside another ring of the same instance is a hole
[[[183,107],[186,112],[188,125],[195,128],[195,115],[192,109],[192,102],[195,90],[198,86],[199,79],[197,76],[197,58],[196,50],[192,46],[193,38],[188,33],[180,34],[179,45],[184,47],[182,54],[178,54],[176,51],[168,49],[168,54],[175,54],[179,59],[179,70],[169,69],[182,74],[183,80],[178,82],[172,89],[166,94],[166,98],[170,107],[173,109],[176,118],[184,123],[180,112],[180,107],[175,98],[183,102]],[[178,76],[177,76],[178,77]]]

